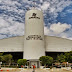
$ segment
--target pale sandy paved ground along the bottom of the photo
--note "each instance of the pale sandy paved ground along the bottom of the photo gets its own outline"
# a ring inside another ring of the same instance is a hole
[[[33,69],[23,69],[23,68],[3,68],[3,71],[0,70],[0,72],[32,72]],[[9,71],[7,71],[9,70]],[[72,72],[72,71],[68,71],[68,70],[63,70],[63,69],[36,69],[35,72]]]

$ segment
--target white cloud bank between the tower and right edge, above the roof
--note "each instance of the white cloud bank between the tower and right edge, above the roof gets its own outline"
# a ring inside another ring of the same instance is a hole
[[[68,31],[65,32],[66,29],[71,30],[71,25],[68,25],[66,23],[61,24],[60,22],[58,22],[57,24],[52,24],[50,28],[44,27],[44,34],[71,39],[72,37],[69,36],[69,34],[67,33]]]

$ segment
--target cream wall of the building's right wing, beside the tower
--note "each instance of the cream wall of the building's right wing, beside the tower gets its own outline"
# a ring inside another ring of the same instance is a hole
[[[72,50],[72,40],[45,36],[45,46],[47,52],[68,52]]]

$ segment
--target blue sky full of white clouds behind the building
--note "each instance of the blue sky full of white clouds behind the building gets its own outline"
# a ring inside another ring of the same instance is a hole
[[[0,0],[0,39],[24,35],[25,13],[33,0]],[[35,0],[42,9],[44,34],[72,40],[72,0]]]

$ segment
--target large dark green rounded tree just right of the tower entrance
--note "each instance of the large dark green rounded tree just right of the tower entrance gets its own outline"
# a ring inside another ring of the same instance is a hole
[[[39,60],[41,61],[42,65],[44,65],[44,66],[50,65],[53,62],[53,58],[50,56],[41,56],[39,58]]]

